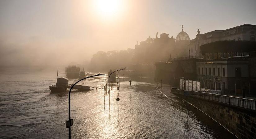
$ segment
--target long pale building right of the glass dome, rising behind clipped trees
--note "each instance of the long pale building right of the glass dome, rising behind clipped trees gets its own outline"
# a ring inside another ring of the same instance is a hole
[[[201,55],[200,46],[218,40],[250,40],[255,41],[256,25],[244,24],[226,30],[214,30],[200,34],[198,29],[195,39],[190,40],[188,48],[190,55]],[[188,52],[188,51],[187,51]]]

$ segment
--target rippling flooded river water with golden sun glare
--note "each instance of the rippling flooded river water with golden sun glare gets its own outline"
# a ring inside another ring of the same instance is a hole
[[[0,138],[68,138],[68,92],[48,88],[56,72],[2,71],[0,79]],[[72,138],[235,138],[195,108],[186,111],[184,102],[166,98],[154,84],[132,81],[130,92],[128,80],[121,79],[119,94],[112,86],[105,109],[103,89],[71,93]],[[80,84],[102,88],[106,81]]]

